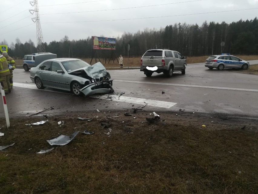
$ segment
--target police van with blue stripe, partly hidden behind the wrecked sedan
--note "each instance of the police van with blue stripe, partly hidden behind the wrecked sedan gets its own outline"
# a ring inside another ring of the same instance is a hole
[[[33,53],[25,55],[23,58],[23,69],[28,71],[31,67],[36,67],[42,61],[55,58],[57,58],[57,55],[53,53]]]

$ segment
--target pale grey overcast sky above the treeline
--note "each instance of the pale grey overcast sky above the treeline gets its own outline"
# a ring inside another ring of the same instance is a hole
[[[59,41],[65,35],[70,40],[88,36],[116,38],[124,32],[160,29],[179,22],[230,23],[254,19],[258,13],[258,0],[38,0],[38,6],[43,39],[47,43]],[[36,45],[36,24],[31,20],[35,13],[31,15],[29,9],[33,7],[28,0],[1,2],[0,42],[5,39],[10,46],[18,37],[21,43],[31,39]],[[232,11],[239,9],[250,10]]]

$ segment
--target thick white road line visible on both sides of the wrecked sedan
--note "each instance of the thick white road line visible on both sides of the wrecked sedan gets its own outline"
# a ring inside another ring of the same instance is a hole
[[[35,90],[39,90],[36,85],[34,83],[32,84],[27,84],[27,83],[13,83],[14,87],[23,87],[23,88],[28,88],[28,89],[35,89]],[[62,94],[70,94],[71,93],[66,93],[66,91],[55,91],[55,90],[48,90],[48,88],[45,88],[44,90],[48,91],[48,92],[56,92],[56,93],[62,93]],[[107,97],[110,96],[112,97],[112,99],[107,99]],[[154,106],[154,107],[162,107],[162,108],[170,108],[172,106],[174,106],[177,103],[174,102],[165,102],[165,101],[160,101],[160,100],[148,100],[148,99],[143,99],[143,98],[134,98],[134,97],[126,97],[126,96],[121,96],[120,98],[118,98],[119,96],[117,95],[93,95],[91,96],[93,98],[100,98],[100,99],[105,99],[105,100],[114,100],[114,101],[118,101],[118,102],[127,102],[127,103],[134,103],[134,104],[142,104],[145,105],[144,102],[146,102],[148,104],[148,106]]]

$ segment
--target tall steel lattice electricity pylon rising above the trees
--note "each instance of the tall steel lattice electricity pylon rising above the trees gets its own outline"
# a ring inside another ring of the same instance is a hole
[[[37,50],[38,50],[38,53],[44,53],[44,52],[46,52],[46,50],[45,50],[45,45],[44,45],[44,41],[43,41],[40,20],[39,20],[38,0],[31,1],[30,4],[32,7],[34,7],[34,9],[30,9],[29,12],[32,15],[35,12],[35,16],[36,16],[31,19],[34,23],[36,22],[36,26],[37,26]]]

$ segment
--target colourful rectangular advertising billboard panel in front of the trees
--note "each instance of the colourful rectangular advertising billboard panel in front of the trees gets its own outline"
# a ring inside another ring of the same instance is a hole
[[[116,39],[92,36],[92,49],[115,50],[116,49]]]

